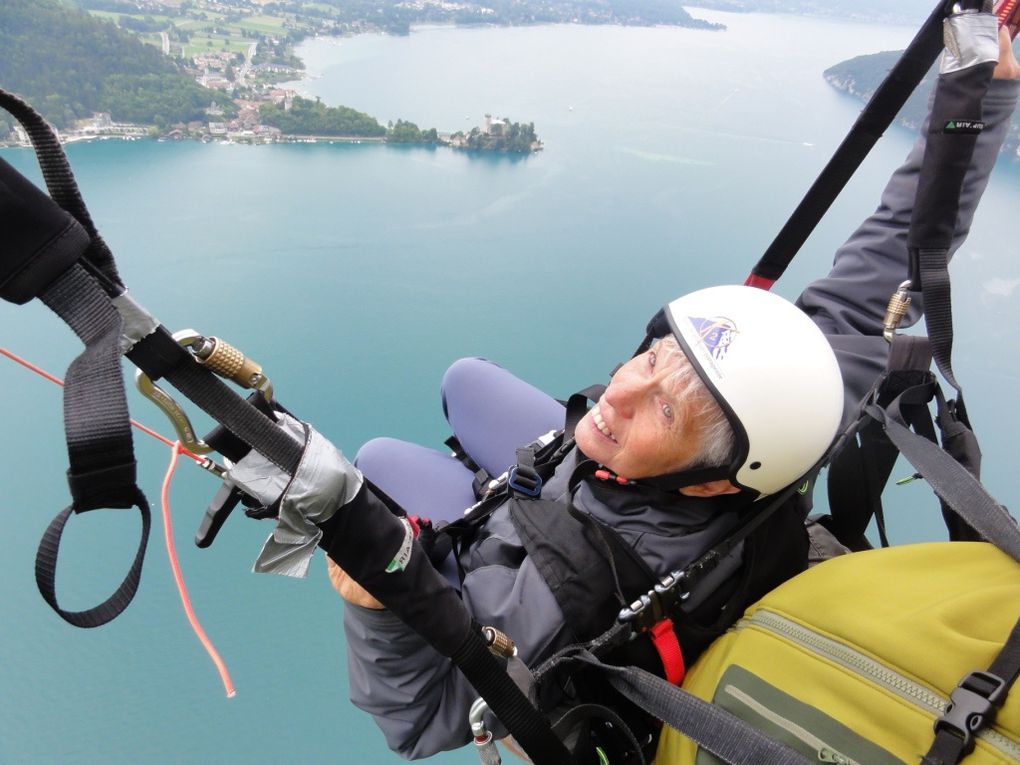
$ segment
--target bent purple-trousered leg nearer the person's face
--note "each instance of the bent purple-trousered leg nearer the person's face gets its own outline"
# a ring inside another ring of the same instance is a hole
[[[443,411],[464,451],[499,475],[516,450],[563,427],[563,405],[484,359],[460,359],[443,377]]]

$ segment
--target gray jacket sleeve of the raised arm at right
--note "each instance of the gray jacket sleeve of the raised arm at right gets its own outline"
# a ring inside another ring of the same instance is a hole
[[[988,184],[1010,115],[1016,107],[1018,92],[1020,81],[993,80],[985,95],[985,129],[978,137],[964,180],[950,257],[970,232],[977,203]],[[830,338],[830,342],[844,372],[851,406],[867,393],[884,367],[885,345],[880,340],[882,321],[889,297],[908,275],[907,231],[927,129],[925,120],[907,160],[889,178],[878,209],[836,251],[832,270],[810,285],[798,299],[798,305],[822,332],[842,336]],[[915,299],[903,325],[915,323],[920,318],[921,308],[920,300]]]

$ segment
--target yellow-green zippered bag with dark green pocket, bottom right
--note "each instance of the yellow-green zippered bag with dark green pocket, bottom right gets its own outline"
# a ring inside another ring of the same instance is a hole
[[[683,687],[817,762],[919,763],[950,694],[1020,615],[1020,563],[983,543],[854,553],[748,609]],[[656,765],[719,761],[672,728]],[[1020,682],[965,765],[1020,762]]]

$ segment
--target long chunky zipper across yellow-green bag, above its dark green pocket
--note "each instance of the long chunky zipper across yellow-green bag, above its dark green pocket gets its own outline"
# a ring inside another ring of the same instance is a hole
[[[906,677],[884,664],[855,651],[846,644],[833,641],[819,634],[802,624],[780,616],[772,611],[759,609],[750,617],[741,619],[736,629],[760,627],[766,631],[778,634],[801,648],[823,656],[855,674],[871,682],[891,691],[900,698],[910,702],[933,718],[940,717],[946,712],[948,700],[918,682]],[[1020,760],[1020,745],[991,728],[977,733],[983,741],[1005,757]]]

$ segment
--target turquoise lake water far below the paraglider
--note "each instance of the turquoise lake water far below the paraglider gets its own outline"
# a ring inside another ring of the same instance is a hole
[[[69,147],[134,294],[171,328],[255,356],[280,400],[345,451],[375,435],[439,445],[443,369],[486,355],[556,395],[604,378],[656,307],[743,280],[859,106],[822,81],[907,28],[704,12],[725,33],[546,27],[318,40],[302,51],[328,103],[441,131],[486,112],[534,121],[526,159],[375,145]],[[911,136],[891,131],[779,285],[793,297],[873,207]],[[3,156],[26,171],[26,151]],[[1007,504],[1020,378],[1017,168],[1001,167],[955,266],[958,375]],[[38,305],[0,306],[5,346],[58,372],[69,333]],[[137,602],[73,629],[41,602],[35,546],[66,502],[59,394],[7,362],[0,462],[0,762],[373,763],[394,760],[346,700],[341,608],[309,581],[249,572],[268,528],[234,518],[191,537],[215,490],[182,465],[175,531],[195,608],[231,667],[225,700],[181,613],[160,533]],[[167,430],[133,397],[133,413]],[[166,454],[137,439],[158,498]],[[939,536],[929,494],[898,490],[899,541]],[[890,505],[894,503],[890,502]],[[126,569],[139,523],[69,524],[59,592],[84,608]],[[469,763],[471,752],[436,758]]]

